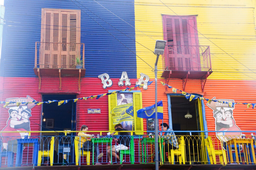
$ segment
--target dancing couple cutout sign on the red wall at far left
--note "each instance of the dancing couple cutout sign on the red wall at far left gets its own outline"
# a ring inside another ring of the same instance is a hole
[[[6,99],[6,102],[12,101],[16,103],[6,106],[6,108],[8,108],[9,118],[6,120],[6,126],[2,129],[2,132],[14,131],[15,133],[1,133],[4,150],[7,150],[8,141],[25,138],[25,136],[28,136],[28,133],[20,131],[30,131],[29,118],[32,116],[31,108],[36,106],[36,104],[28,103],[25,105],[21,104],[21,102],[33,102],[33,100],[34,99],[28,95],[26,98],[21,97]]]

